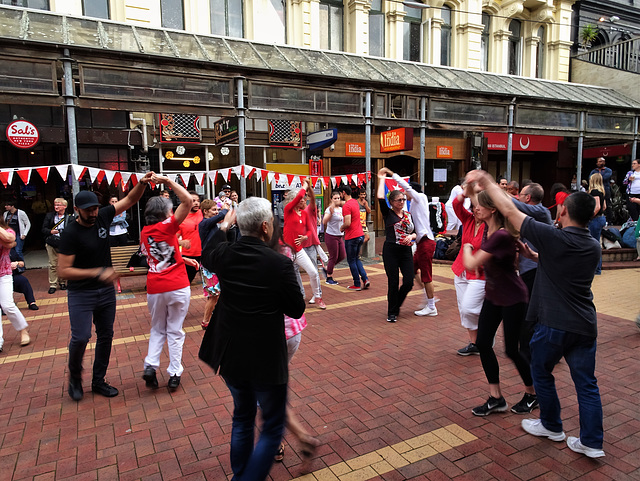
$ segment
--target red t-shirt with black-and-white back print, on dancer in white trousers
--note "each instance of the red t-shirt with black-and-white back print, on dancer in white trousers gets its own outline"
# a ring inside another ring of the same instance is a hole
[[[174,216],[142,229],[142,251],[147,256],[147,293],[160,294],[189,286],[189,277],[178,248],[180,229]]]

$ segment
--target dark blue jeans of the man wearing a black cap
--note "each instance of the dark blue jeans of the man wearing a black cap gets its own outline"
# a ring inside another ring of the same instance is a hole
[[[113,322],[116,318],[116,290],[113,285],[100,289],[68,290],[69,323],[69,376],[82,375],[82,358],[91,339],[91,322],[96,326],[96,347],[93,359],[93,379],[96,384],[104,380],[111,357]]]

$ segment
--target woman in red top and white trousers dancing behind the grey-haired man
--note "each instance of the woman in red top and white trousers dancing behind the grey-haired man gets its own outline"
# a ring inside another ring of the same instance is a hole
[[[307,274],[309,274],[311,289],[313,290],[312,300],[315,302],[316,307],[326,309],[327,306],[322,301],[322,289],[320,287],[318,268],[314,265],[315,262],[309,259],[309,256],[302,248],[304,241],[309,239],[309,231],[316,228],[315,225],[309,226],[309,217],[304,212],[307,207],[305,194],[308,189],[309,183],[305,181],[302,184],[302,188],[298,191],[298,194],[284,206],[284,227],[282,236],[284,241],[296,251],[295,264],[298,267],[302,267],[307,271]]]

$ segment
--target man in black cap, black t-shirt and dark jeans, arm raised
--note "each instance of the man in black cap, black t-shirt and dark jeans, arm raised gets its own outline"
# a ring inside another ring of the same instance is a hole
[[[109,366],[113,323],[116,316],[116,292],[113,281],[117,274],[111,264],[109,226],[113,218],[133,207],[142,197],[153,172],[147,173],[131,189],[129,195],[114,205],[99,208],[93,192],[76,195],[76,222],[70,223],[60,238],[58,272],[67,279],[69,304],[69,396],[80,401],[82,358],[91,338],[91,323],[96,326],[96,347],[91,390],[106,397],[118,395],[104,377]]]

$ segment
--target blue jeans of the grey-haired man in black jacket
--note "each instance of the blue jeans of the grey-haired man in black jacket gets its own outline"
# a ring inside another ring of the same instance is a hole
[[[286,384],[257,384],[225,378],[233,396],[231,427],[232,481],[263,481],[278,451],[287,412]],[[256,413],[260,403],[262,432],[253,445]]]

